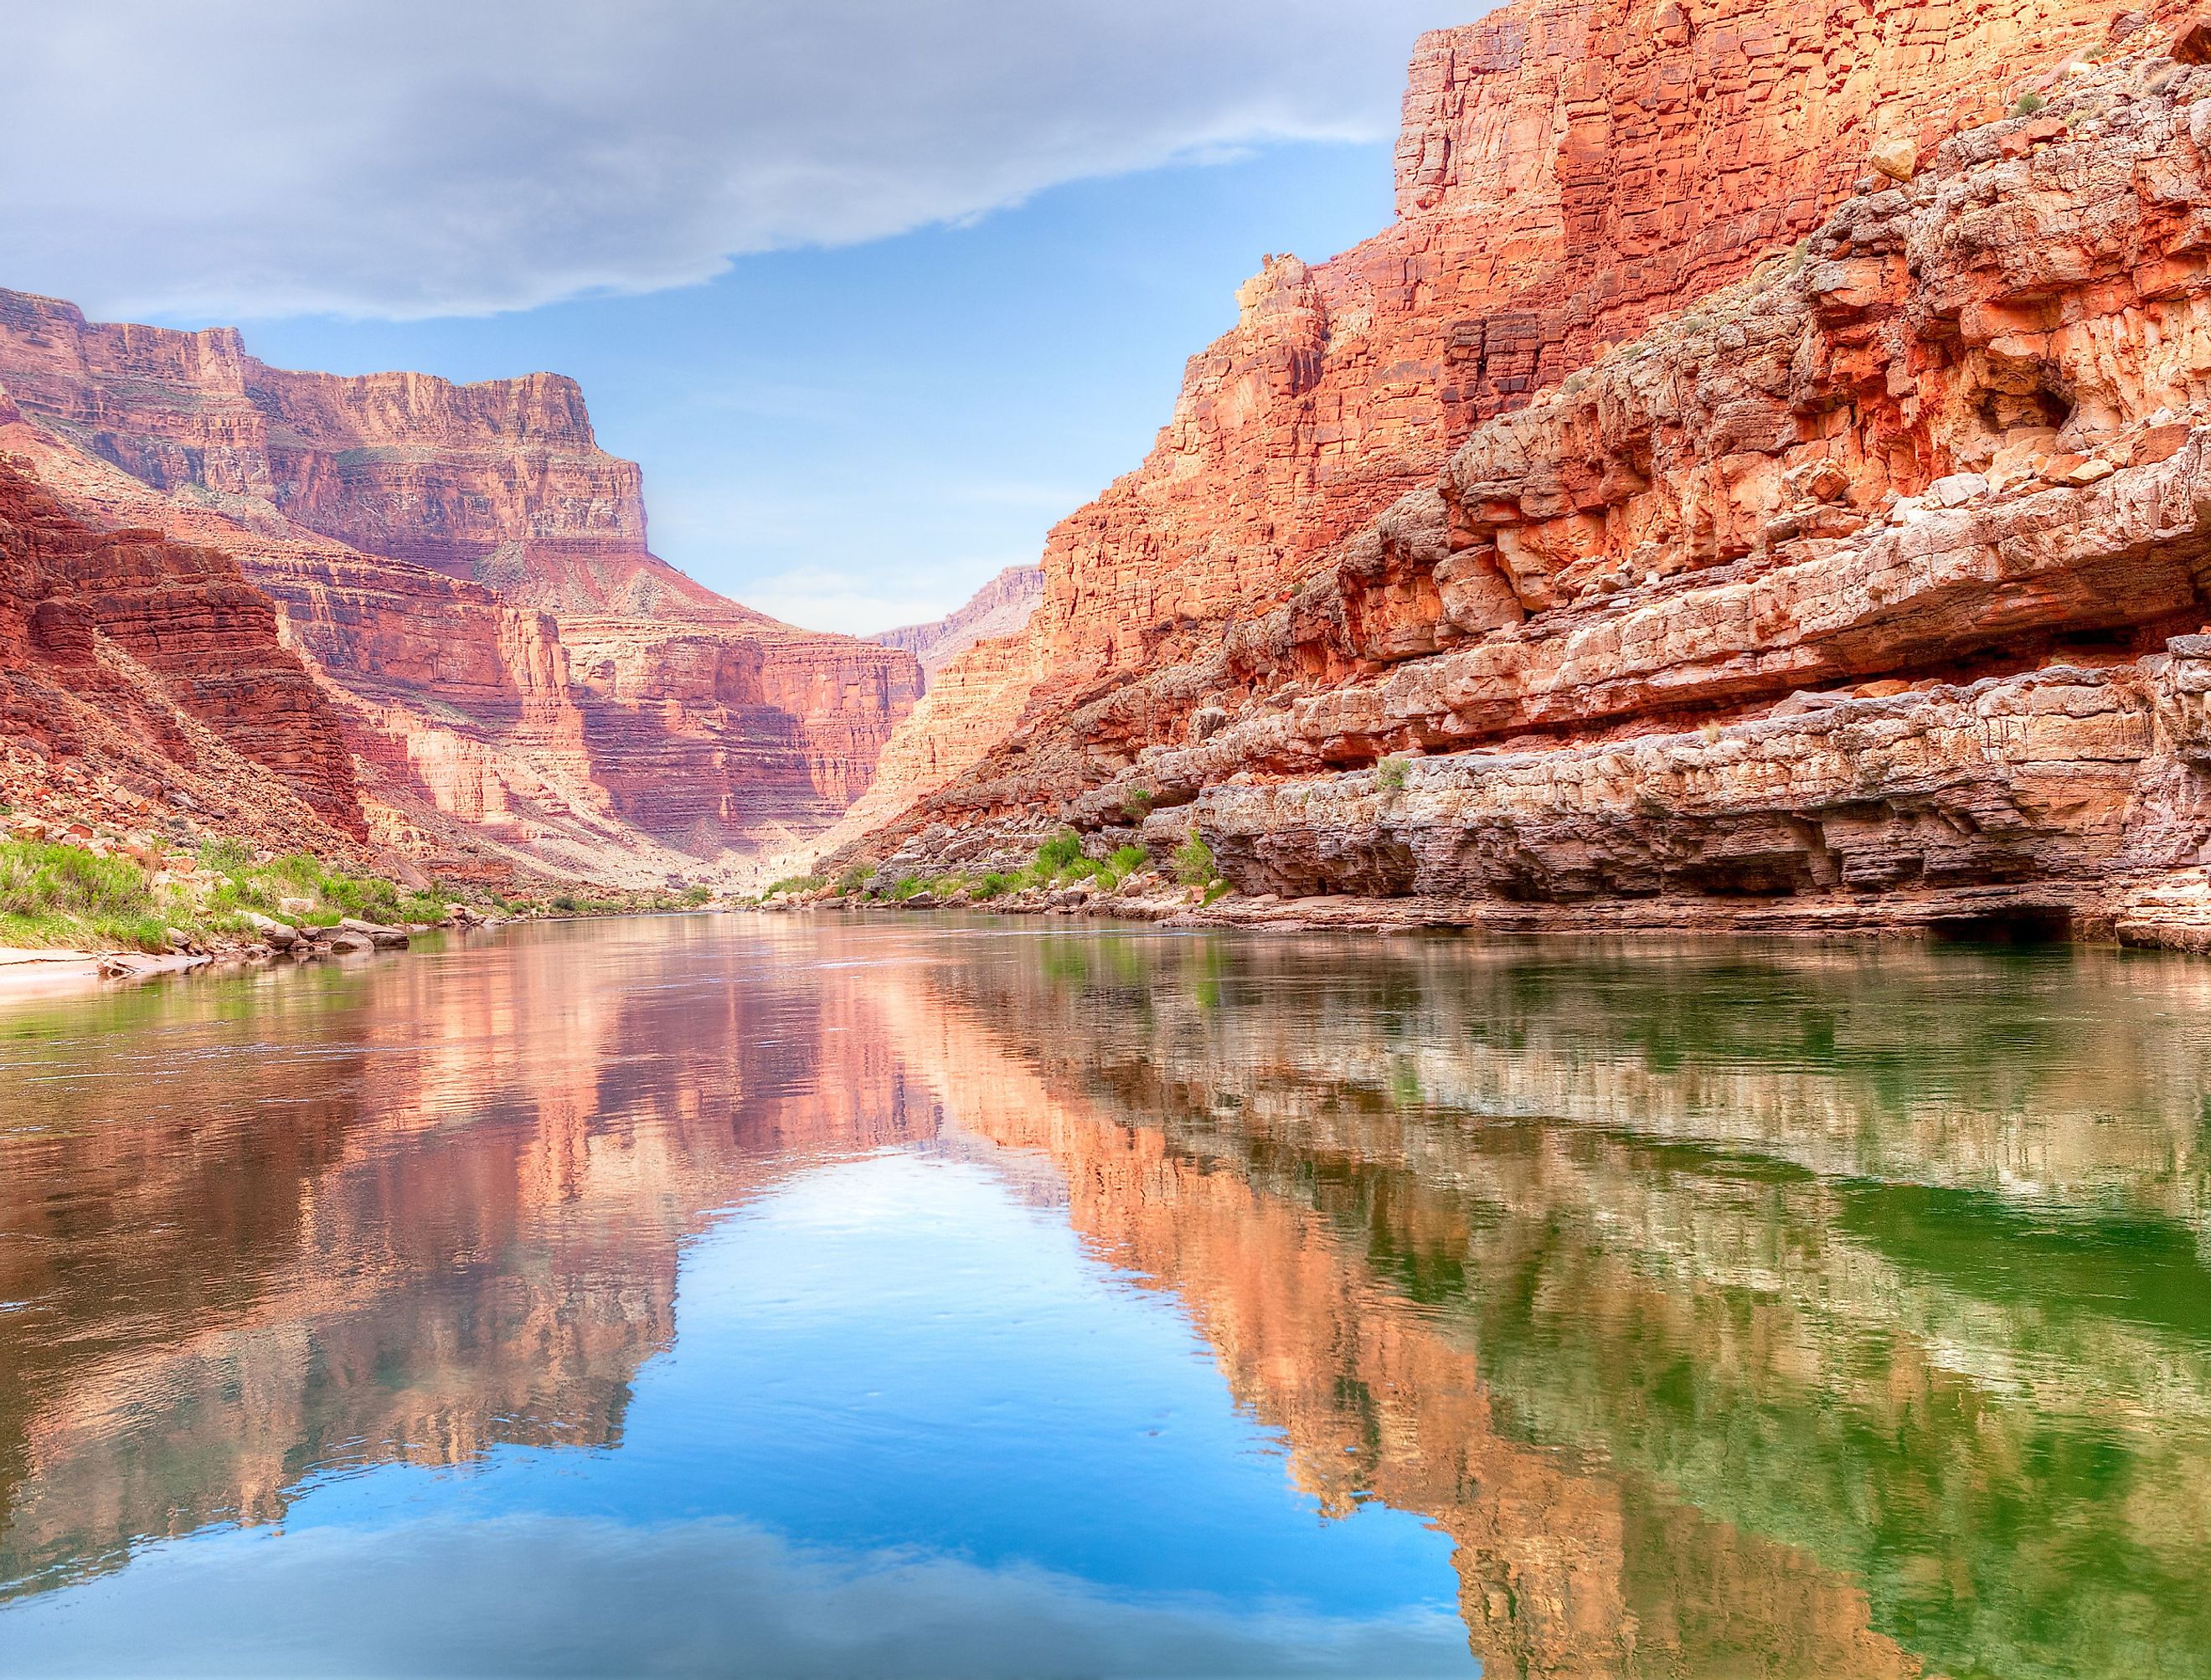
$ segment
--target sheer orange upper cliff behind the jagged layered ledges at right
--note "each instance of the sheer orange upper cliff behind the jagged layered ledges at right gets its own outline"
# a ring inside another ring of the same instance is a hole
[[[1543,0],[1424,35],[1400,221],[1269,259],[1134,473],[1046,550],[1057,679],[1280,601],[1468,431],[1806,237],[1882,139],[2105,42],[2081,0]]]

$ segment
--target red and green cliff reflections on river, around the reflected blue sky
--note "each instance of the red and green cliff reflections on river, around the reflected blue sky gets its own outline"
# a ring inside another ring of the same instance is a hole
[[[2178,959],[918,920],[0,1017],[0,1574],[619,1446],[690,1233],[926,1145],[1442,1525],[1492,1673],[2211,1673],[2207,1061]]]

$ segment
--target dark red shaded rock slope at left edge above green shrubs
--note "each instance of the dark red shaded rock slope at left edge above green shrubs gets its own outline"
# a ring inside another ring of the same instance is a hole
[[[338,716],[228,555],[88,531],[0,466],[0,785],[66,765],[135,816],[177,798],[276,844],[365,838]]]

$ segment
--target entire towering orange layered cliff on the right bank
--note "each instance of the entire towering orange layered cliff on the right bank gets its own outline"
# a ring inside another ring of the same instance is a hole
[[[871,847],[1150,794],[1154,849],[1194,827],[1260,895],[2193,942],[2211,75],[2171,40],[2061,4],[1426,38],[1397,228],[1269,261],[1055,533],[1024,716]]]

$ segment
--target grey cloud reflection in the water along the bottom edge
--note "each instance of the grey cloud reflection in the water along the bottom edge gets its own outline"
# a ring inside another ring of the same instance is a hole
[[[798,1547],[750,1523],[559,1516],[157,1545],[11,1605],[7,1651],[46,1676],[1473,1671],[1448,1605],[1327,1616],[1119,1596],[1019,1563]]]

